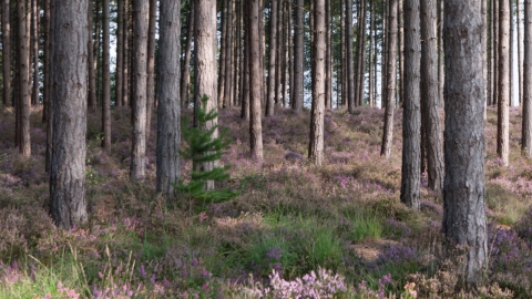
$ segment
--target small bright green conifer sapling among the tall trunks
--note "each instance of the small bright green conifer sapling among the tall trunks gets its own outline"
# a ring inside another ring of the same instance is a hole
[[[214,133],[218,128],[217,124],[205,130],[207,122],[212,122],[218,117],[216,111],[212,110],[207,112],[207,96],[203,96],[203,105],[197,110],[198,126],[185,126],[183,128],[185,146],[180,153],[184,158],[192,159],[194,166],[191,181],[185,184],[183,179],[180,179],[177,185],[174,185],[174,188],[181,195],[202,204],[231,200],[238,195],[237,192],[226,188],[215,190],[205,187],[208,181],[223,182],[229,178],[229,174],[227,173],[229,166],[218,167],[215,162],[222,157],[223,150],[227,148],[231,144],[231,141],[226,138],[227,130],[221,132],[218,137],[214,136]],[[200,169],[200,165],[203,163],[213,163],[212,169]]]

